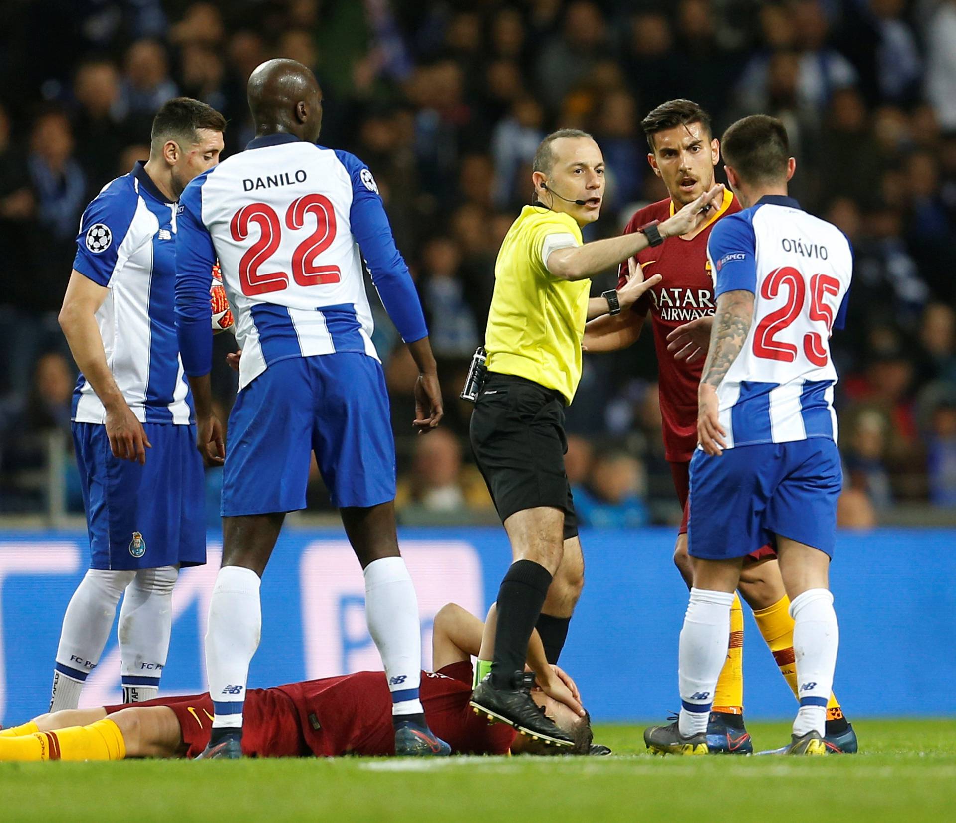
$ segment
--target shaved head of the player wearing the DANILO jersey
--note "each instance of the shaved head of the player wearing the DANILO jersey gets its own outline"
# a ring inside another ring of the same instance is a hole
[[[256,137],[293,134],[315,143],[322,130],[322,90],[308,66],[277,58],[255,68],[247,87]]]

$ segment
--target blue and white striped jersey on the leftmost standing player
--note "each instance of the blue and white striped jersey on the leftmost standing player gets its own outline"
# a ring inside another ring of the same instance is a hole
[[[138,163],[86,207],[76,237],[73,267],[109,289],[97,312],[99,334],[106,363],[141,423],[192,422],[173,313],[178,208]],[[73,419],[106,421],[103,404],[82,374]]]

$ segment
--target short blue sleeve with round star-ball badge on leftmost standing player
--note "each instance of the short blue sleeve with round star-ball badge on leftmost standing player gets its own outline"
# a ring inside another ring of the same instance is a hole
[[[125,177],[99,192],[79,221],[73,260],[77,272],[101,286],[109,285],[139,203],[136,189]]]

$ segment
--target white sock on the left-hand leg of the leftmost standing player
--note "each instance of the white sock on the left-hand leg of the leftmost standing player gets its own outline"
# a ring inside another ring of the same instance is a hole
[[[135,571],[91,568],[76,587],[63,615],[50,711],[76,708],[83,681],[103,653],[120,595],[135,575]]]

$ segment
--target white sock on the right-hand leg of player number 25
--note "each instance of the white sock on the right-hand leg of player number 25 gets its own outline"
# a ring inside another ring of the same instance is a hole
[[[826,734],[827,701],[833,690],[839,626],[834,596],[827,589],[807,589],[790,604],[793,617],[793,656],[796,661],[800,709],[793,734]]]

